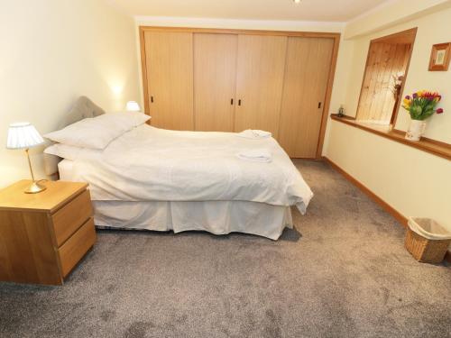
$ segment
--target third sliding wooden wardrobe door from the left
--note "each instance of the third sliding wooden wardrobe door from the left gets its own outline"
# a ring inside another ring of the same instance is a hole
[[[287,39],[238,36],[235,132],[262,129],[277,137]]]

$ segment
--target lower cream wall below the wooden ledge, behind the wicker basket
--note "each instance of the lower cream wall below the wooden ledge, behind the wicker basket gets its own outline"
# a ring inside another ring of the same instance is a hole
[[[405,216],[451,231],[451,161],[332,121],[326,155]]]

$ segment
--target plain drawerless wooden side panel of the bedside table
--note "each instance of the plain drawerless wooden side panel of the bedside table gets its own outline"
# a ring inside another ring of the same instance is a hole
[[[48,214],[0,211],[0,273],[2,280],[61,284]]]

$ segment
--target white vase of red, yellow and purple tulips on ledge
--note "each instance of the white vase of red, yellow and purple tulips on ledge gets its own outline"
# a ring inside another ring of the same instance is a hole
[[[426,130],[426,120],[433,114],[442,114],[443,109],[436,105],[442,96],[437,92],[432,93],[427,90],[420,90],[413,93],[412,96],[404,98],[402,106],[410,114],[410,126],[406,132],[406,139],[410,141],[419,141]]]

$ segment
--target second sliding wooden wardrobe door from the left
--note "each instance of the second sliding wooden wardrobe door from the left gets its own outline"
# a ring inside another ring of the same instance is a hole
[[[195,129],[233,132],[236,34],[194,34]]]

